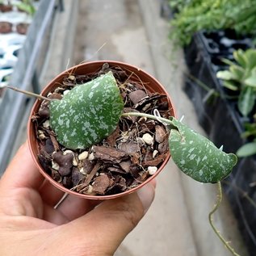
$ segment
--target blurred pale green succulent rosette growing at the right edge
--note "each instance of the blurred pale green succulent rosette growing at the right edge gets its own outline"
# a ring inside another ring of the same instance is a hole
[[[247,116],[256,99],[256,49],[239,49],[233,52],[233,57],[237,63],[224,59],[229,70],[219,71],[216,76],[224,80],[224,86],[229,90],[239,91],[238,109]]]

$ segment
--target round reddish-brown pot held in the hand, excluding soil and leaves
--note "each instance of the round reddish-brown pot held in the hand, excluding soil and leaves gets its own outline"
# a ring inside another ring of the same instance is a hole
[[[81,65],[76,65],[68,70],[65,70],[63,73],[60,73],[56,78],[54,78],[48,84],[48,86],[46,86],[44,88],[44,90],[42,91],[41,94],[47,95],[48,91],[51,91],[51,90],[54,90],[55,88],[57,88],[57,86],[60,85],[60,83],[63,81],[63,78],[65,78],[65,76],[67,74],[70,74],[70,73],[76,73],[76,74],[97,73],[102,68],[104,63],[108,63],[110,65],[110,67],[119,66],[121,69],[128,71],[128,73],[134,73],[133,78],[137,79],[137,81],[140,80],[140,81],[144,82],[145,89],[149,90],[150,92],[158,92],[160,94],[166,94],[167,102],[168,102],[169,109],[170,109],[170,115],[175,116],[174,106],[171,103],[170,97],[168,96],[166,90],[160,84],[160,82],[157,82],[157,80],[155,78],[153,78],[151,75],[149,75],[149,73],[146,73],[145,71],[137,68],[136,66],[128,65],[128,64],[118,62],[118,61],[94,61],[94,62],[87,62],[87,63],[81,64]],[[36,103],[32,107],[30,118],[28,120],[28,124],[27,124],[28,144],[29,144],[29,147],[31,150],[32,157],[33,157],[34,161],[36,162],[36,166],[40,170],[40,173],[43,174],[44,177],[50,181],[50,183],[52,183],[55,187],[59,188],[61,191],[65,191],[72,195],[78,195],[85,199],[113,199],[113,198],[116,198],[116,197],[119,197],[122,195],[127,195],[129,193],[132,193],[133,191],[136,191],[137,189],[143,187],[146,183],[149,183],[149,181],[151,181],[153,178],[155,178],[157,176],[157,174],[159,174],[163,170],[164,166],[166,166],[166,163],[169,161],[170,153],[167,153],[166,159],[164,160],[164,162],[162,162],[162,165],[158,168],[157,172],[155,174],[153,174],[152,176],[150,176],[148,179],[146,179],[144,183],[141,183],[139,186],[134,187],[134,188],[130,189],[129,191],[124,191],[122,193],[115,194],[115,195],[84,195],[84,194],[79,194],[78,192],[75,192],[75,191],[70,191],[68,188],[63,187],[60,183],[57,183],[56,181],[54,181],[43,170],[42,166],[40,166],[40,163],[38,162],[37,156],[39,153],[39,145],[38,145],[38,141],[36,139],[36,128],[35,128],[34,124],[31,122],[31,116],[38,112],[40,103],[41,103],[40,100],[36,100]]]

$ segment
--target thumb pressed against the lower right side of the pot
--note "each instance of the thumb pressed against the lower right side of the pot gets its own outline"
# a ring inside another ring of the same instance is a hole
[[[85,216],[68,225],[79,234],[81,252],[92,255],[113,255],[124,237],[136,227],[154,198],[154,185],[148,183],[130,195],[104,201]],[[69,233],[70,234],[70,233]]]

